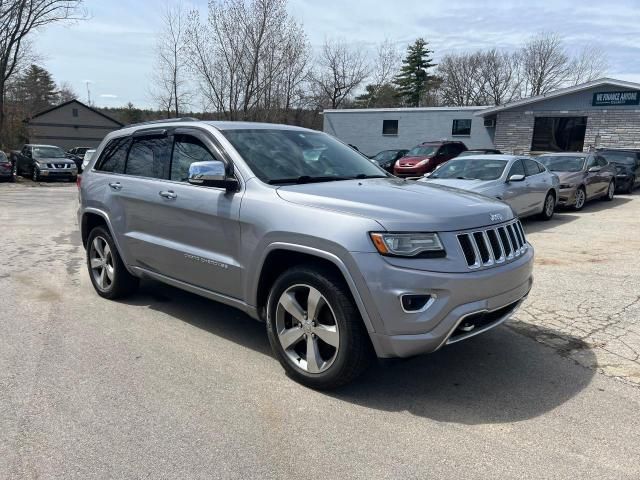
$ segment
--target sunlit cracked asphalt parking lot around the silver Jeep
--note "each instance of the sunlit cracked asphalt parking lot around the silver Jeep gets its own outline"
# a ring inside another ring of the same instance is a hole
[[[527,221],[508,326],[289,380],[264,326],[152,282],[91,287],[72,185],[0,185],[0,478],[638,478],[640,195]]]

